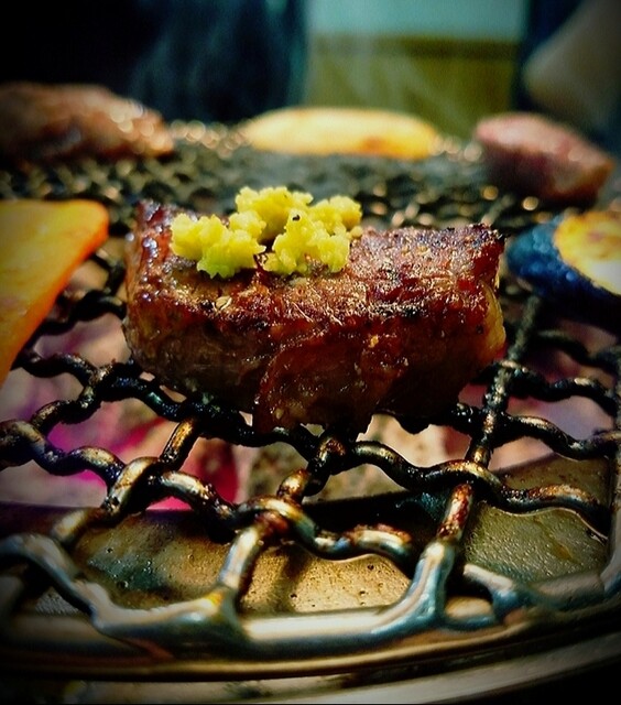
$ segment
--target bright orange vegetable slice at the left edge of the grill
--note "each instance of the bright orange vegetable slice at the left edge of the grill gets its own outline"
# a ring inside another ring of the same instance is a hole
[[[108,227],[108,210],[96,200],[0,202],[0,384]]]

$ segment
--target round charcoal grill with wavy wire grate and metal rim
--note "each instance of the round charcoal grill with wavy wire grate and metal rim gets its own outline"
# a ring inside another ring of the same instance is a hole
[[[405,702],[385,690],[401,684],[416,702],[439,702],[619,661],[619,340],[558,318],[508,272],[506,354],[469,386],[478,395],[428,420],[464,441],[462,452],[431,466],[329,429],[260,435],[215,399],[163,388],[129,354],[95,364],[61,344],[48,352],[77,325],[112,316],[120,327],[121,246],[140,198],[226,213],[242,185],[286,184],[316,197],[351,195],[367,221],[483,221],[508,237],[557,209],[488,183],[476,148],[457,141],[406,163],[257,152],[229,128],[173,128],[170,158],[0,172],[3,198],[95,198],[111,217],[110,241],[91,258],[102,283],[65,292],[14,365],[36,379],[66,375],[77,393],[30,417],[2,414],[0,424],[3,470],[34,463],[67,479],[87,471],[103,488],[94,506],[2,505],[6,694],[364,702],[371,692]],[[619,203],[614,188],[606,198]],[[521,413],[515,402],[527,399],[542,408],[588,401],[607,424],[576,436],[554,416]],[[58,426],[128,401],[171,422],[159,455],[123,462],[105,447],[55,444]],[[397,421],[413,438],[428,425]],[[185,471],[201,438],[279,443],[304,462],[269,491],[233,502]],[[521,438],[540,444],[541,457],[494,467],[499,451]],[[362,466],[394,491],[322,499]],[[184,509],[159,509],[171,497]]]

